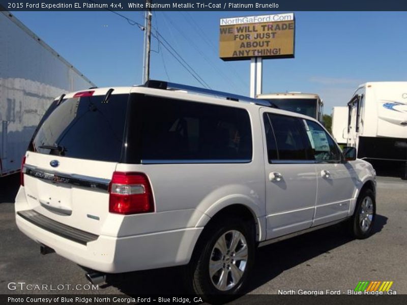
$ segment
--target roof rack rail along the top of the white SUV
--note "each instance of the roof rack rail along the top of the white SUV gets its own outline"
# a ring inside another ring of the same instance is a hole
[[[253,99],[253,98],[236,95],[236,94],[231,94],[231,93],[226,93],[226,92],[222,92],[222,91],[194,87],[194,86],[183,85],[183,84],[177,84],[177,83],[171,83],[171,82],[166,82],[166,81],[161,81],[161,80],[152,80],[152,79],[148,80],[144,84],[144,87],[163,89],[163,90],[167,90],[167,89],[185,90],[187,92],[195,92],[195,93],[199,93],[199,94],[223,97],[226,100],[231,100],[231,101],[237,101],[237,102],[242,101],[242,102],[253,103],[253,104],[261,105],[261,106],[278,108],[274,103],[272,103],[271,101],[268,101],[268,100]]]

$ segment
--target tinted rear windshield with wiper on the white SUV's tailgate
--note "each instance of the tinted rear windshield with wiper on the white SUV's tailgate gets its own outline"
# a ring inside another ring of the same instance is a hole
[[[81,97],[54,102],[29,150],[41,154],[119,162],[129,95]]]

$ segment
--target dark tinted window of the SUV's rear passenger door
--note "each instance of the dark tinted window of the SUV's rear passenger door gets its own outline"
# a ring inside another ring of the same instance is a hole
[[[270,121],[265,118],[265,125],[271,124],[272,133],[267,134],[269,161],[304,161],[314,160],[312,149],[301,119],[293,116],[268,113]],[[274,139],[272,138],[274,136]],[[274,141],[275,142],[274,142]],[[277,151],[275,151],[277,150]]]

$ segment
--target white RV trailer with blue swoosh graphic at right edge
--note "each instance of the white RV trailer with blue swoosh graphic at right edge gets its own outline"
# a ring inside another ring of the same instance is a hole
[[[407,82],[367,82],[347,106],[347,145],[358,158],[392,161],[407,178]]]

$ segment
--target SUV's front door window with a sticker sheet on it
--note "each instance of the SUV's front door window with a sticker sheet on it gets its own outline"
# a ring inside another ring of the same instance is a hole
[[[339,162],[339,150],[330,135],[314,121],[306,119],[304,120],[304,124],[314,151],[315,160],[317,162]]]

